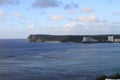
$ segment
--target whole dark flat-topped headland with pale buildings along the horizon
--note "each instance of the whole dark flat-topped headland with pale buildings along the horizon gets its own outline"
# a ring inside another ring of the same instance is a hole
[[[120,43],[120,35],[42,35],[28,36],[29,42]]]

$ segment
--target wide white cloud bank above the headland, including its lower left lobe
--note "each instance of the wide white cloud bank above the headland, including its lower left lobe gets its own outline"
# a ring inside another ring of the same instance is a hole
[[[73,31],[74,29],[83,29],[89,30],[92,29],[92,26],[96,25],[96,27],[105,26],[104,24],[108,23],[107,21],[100,21],[96,15],[89,16],[80,16],[76,19],[72,19],[69,23],[64,25],[66,31]],[[92,25],[92,26],[91,26]],[[82,28],[81,28],[82,27]],[[78,31],[78,30],[77,30]]]

